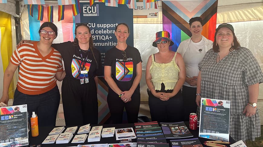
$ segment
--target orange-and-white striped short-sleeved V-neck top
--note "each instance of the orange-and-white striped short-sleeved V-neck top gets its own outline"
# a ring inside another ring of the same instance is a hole
[[[10,62],[19,66],[17,89],[21,93],[37,95],[57,85],[55,74],[63,72],[59,51],[52,47],[43,57],[37,49],[38,42],[23,43],[11,56]]]

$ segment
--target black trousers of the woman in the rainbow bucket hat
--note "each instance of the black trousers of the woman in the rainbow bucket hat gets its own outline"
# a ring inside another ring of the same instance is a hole
[[[162,92],[171,93],[173,90],[164,90]],[[149,92],[149,107],[152,121],[158,122],[178,122],[183,121],[183,97],[181,90],[167,101],[162,101]]]

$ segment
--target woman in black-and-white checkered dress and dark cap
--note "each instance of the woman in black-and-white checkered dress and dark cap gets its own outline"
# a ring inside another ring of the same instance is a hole
[[[251,51],[240,47],[232,25],[218,26],[213,48],[199,63],[199,70],[196,104],[200,106],[201,97],[230,100],[230,136],[235,141],[259,137],[256,103],[263,74]]]

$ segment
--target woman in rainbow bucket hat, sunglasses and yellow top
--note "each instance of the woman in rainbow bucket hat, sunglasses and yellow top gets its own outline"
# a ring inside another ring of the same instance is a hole
[[[149,87],[149,107],[152,121],[182,121],[183,97],[181,87],[185,81],[185,66],[181,54],[170,51],[167,31],[156,33],[153,46],[159,52],[152,54],[146,66],[146,84]]]

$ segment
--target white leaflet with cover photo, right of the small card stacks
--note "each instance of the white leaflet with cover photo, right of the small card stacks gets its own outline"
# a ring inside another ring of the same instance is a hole
[[[136,138],[133,128],[115,129],[116,140]]]

